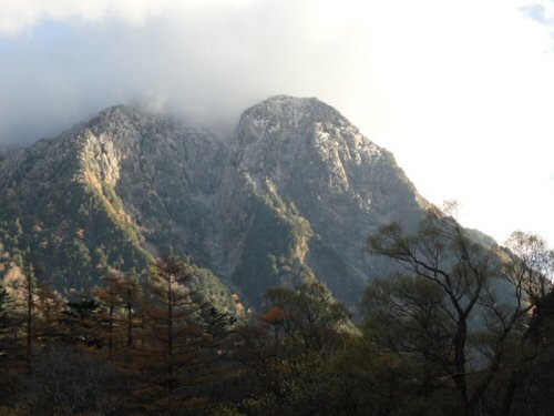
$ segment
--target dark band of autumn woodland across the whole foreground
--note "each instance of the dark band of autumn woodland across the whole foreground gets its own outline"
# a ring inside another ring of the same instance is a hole
[[[6,242],[4,242],[6,243]],[[432,211],[389,224],[353,313],[317,283],[265,307],[218,310],[168,254],[143,271],[98,264],[69,300],[32,253],[0,288],[0,415],[548,415],[554,408],[554,253],[514,233],[474,243]]]

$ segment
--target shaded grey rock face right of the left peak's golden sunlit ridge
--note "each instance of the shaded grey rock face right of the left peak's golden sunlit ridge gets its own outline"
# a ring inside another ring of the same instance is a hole
[[[90,129],[113,143],[113,152],[104,145],[102,158],[117,165],[114,190],[146,246],[173,246],[209,264],[215,201],[228,159],[223,143],[209,132],[122,106],[103,111]]]

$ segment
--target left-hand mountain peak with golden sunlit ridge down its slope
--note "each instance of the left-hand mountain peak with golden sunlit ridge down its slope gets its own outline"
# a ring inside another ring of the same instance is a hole
[[[106,109],[0,162],[0,243],[8,254],[28,251],[39,277],[65,293],[99,284],[103,261],[142,271],[168,247],[202,260],[222,171],[214,159],[224,155],[209,133]],[[198,267],[193,284],[222,310],[235,307],[211,271]]]

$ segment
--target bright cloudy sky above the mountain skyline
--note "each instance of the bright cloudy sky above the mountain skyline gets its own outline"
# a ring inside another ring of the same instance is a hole
[[[422,195],[554,246],[554,0],[0,0],[0,148],[119,103],[228,134],[318,97]]]

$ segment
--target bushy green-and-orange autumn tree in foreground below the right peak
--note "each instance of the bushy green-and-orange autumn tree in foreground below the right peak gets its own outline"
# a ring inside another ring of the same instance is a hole
[[[325,374],[351,328],[346,310],[321,284],[275,287],[267,310],[235,331],[235,358],[247,414],[325,414]]]

